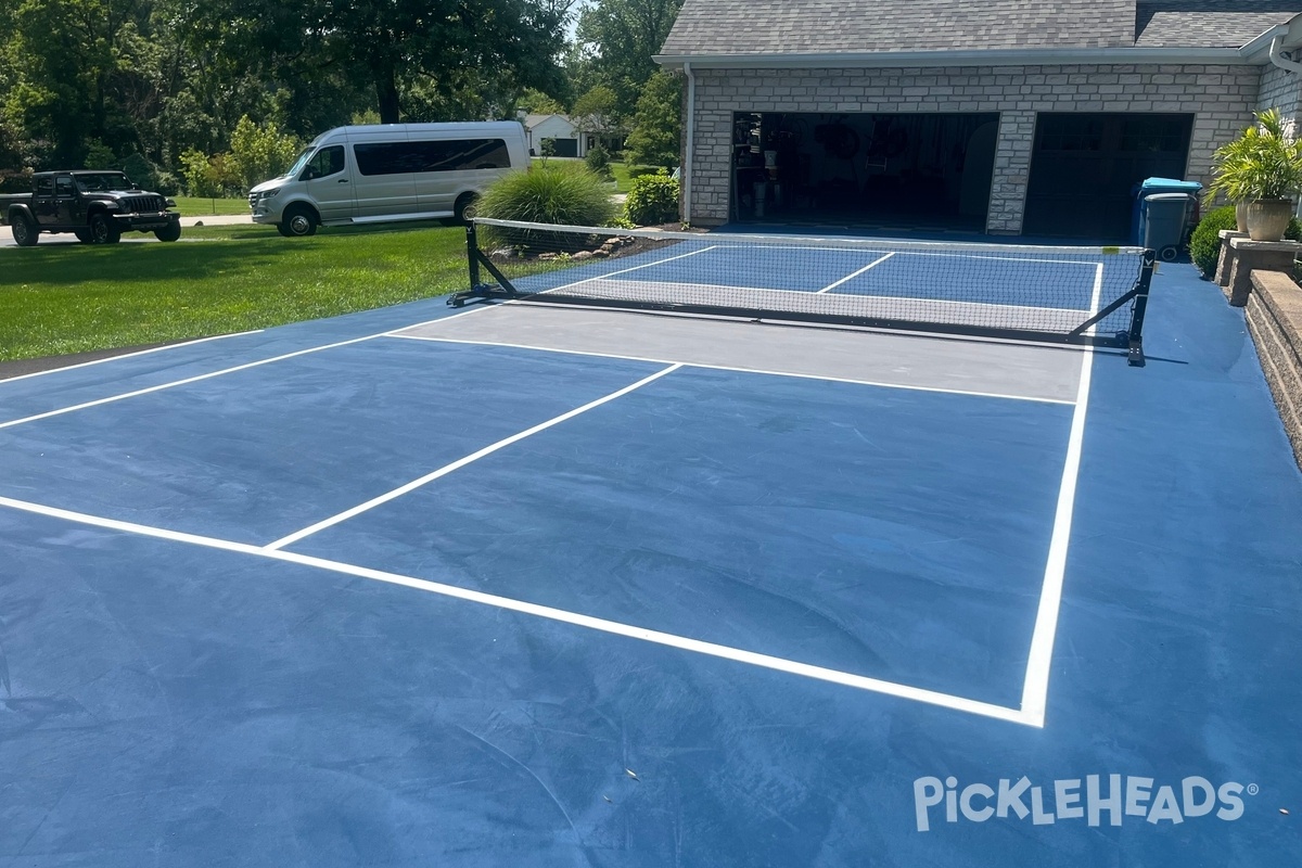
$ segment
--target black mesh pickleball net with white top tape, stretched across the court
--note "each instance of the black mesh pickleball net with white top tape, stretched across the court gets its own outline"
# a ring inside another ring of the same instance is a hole
[[[477,219],[469,295],[1117,342],[1141,247],[660,232]],[[478,251],[478,256],[477,256]],[[1082,328],[1083,327],[1083,328]]]

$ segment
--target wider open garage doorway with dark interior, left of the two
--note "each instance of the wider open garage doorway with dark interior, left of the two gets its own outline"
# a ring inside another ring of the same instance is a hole
[[[733,115],[732,219],[986,226],[996,113]]]

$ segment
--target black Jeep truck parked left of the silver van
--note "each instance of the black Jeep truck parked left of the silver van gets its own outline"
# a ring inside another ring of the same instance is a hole
[[[181,237],[181,215],[171,199],[141,190],[121,172],[38,172],[31,193],[0,195],[0,224],[20,247],[42,232],[70,232],[86,245],[117,243],[124,232],[152,232],[159,241]]]

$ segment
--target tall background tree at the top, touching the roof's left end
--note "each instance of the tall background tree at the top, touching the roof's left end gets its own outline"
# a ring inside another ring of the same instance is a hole
[[[592,0],[579,14],[577,36],[582,51],[577,65],[591,65],[596,82],[618,96],[618,109],[630,116],[642,86],[659,66],[660,52],[682,0]]]

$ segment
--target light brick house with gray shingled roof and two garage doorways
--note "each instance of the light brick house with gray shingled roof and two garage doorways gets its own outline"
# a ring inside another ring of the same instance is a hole
[[[658,57],[686,77],[685,217],[1120,239],[1137,181],[1206,183],[1255,109],[1297,118],[1298,12],[686,0]]]

